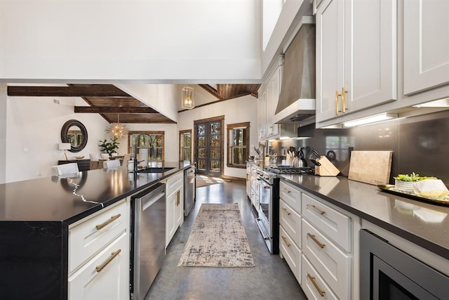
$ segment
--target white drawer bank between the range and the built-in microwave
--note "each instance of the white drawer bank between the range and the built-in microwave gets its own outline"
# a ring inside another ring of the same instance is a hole
[[[359,299],[357,216],[285,181],[279,252],[308,299]]]

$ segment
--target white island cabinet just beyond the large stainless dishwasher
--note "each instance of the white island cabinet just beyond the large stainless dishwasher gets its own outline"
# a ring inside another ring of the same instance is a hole
[[[184,172],[170,176],[166,183],[166,247],[184,222]]]

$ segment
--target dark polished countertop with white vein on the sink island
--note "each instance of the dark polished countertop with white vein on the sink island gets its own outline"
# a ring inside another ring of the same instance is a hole
[[[173,167],[161,174],[128,173],[125,165],[119,169],[81,171],[72,178],[52,176],[4,183],[0,185],[0,222],[74,223],[191,165],[158,163],[154,167]],[[75,185],[78,187],[74,192]]]

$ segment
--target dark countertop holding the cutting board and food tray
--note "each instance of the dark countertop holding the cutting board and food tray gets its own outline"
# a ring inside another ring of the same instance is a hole
[[[343,176],[281,175],[281,180],[449,259],[449,207],[391,195]]]

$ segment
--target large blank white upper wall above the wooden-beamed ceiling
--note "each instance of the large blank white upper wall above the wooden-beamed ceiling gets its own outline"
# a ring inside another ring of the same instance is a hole
[[[260,81],[260,2],[0,0],[0,81]]]

